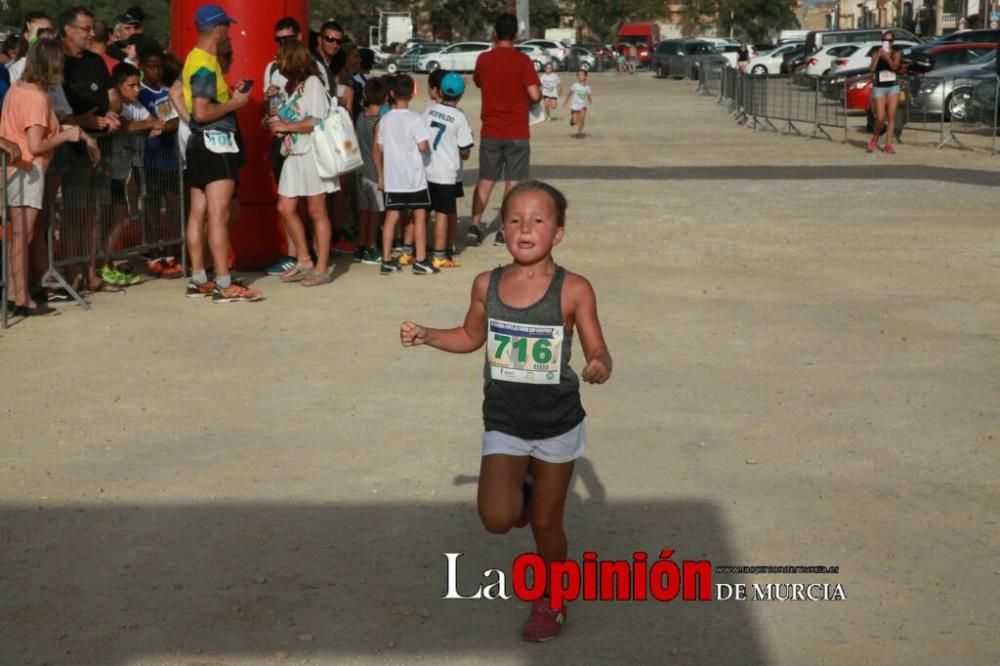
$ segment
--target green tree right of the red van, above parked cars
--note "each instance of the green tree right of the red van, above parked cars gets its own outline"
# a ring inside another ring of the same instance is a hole
[[[685,24],[695,32],[717,25],[725,33],[751,41],[762,40],[770,30],[799,27],[795,0],[688,0]]]

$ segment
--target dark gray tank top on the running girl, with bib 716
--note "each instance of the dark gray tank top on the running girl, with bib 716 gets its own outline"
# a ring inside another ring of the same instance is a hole
[[[573,334],[562,316],[566,271],[556,266],[542,298],[526,308],[500,300],[500,275],[486,292],[483,425],[521,439],[546,439],[578,426],[586,416],[580,380],[569,366]]]

